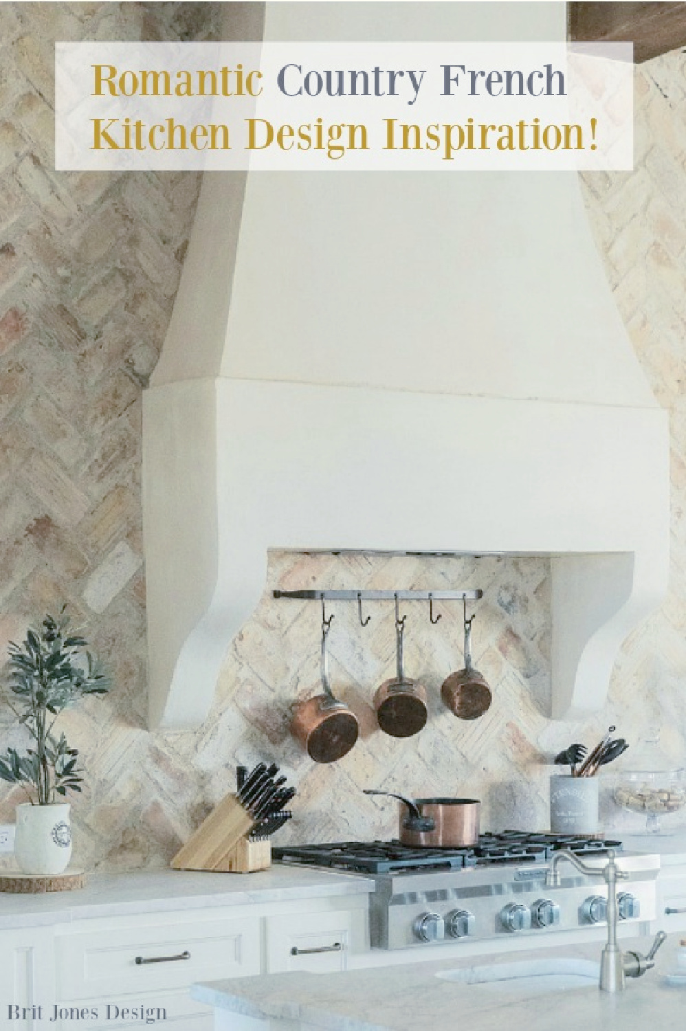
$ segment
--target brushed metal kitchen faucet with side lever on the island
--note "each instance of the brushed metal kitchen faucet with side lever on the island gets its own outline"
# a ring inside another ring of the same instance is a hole
[[[608,863],[602,869],[589,866],[584,863],[568,849],[560,849],[551,860],[548,872],[546,873],[546,885],[548,888],[559,888],[561,884],[558,866],[566,859],[578,870],[589,877],[602,877],[608,886],[608,943],[602,950],[600,957],[600,980],[601,992],[621,992],[626,988],[626,977],[641,977],[646,970],[655,966],[655,953],[660,947],[666,934],[659,931],[655,936],[652,947],[647,956],[641,953],[626,952],[617,944],[617,882],[628,878],[628,873],[620,870],[615,860],[615,852],[611,849],[608,853]]]

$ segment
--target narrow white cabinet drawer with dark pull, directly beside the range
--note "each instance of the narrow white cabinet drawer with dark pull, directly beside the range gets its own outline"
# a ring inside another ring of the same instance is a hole
[[[292,913],[270,917],[267,925],[267,970],[325,972],[345,970],[350,951],[350,912]]]

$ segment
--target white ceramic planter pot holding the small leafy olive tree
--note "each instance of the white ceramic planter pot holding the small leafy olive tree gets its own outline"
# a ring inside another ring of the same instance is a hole
[[[62,873],[71,859],[69,802],[32,805],[15,809],[14,859],[24,873]]]

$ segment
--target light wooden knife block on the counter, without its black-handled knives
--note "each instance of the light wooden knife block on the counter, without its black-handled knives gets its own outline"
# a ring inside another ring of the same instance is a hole
[[[271,866],[271,842],[249,841],[253,818],[235,795],[227,795],[174,858],[174,870],[249,873]]]

